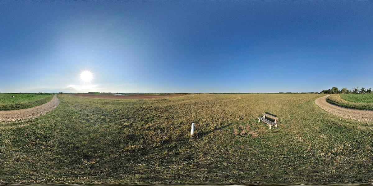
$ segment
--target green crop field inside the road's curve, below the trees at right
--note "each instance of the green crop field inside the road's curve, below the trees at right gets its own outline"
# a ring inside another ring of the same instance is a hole
[[[330,94],[327,102],[361,110],[373,110],[373,94]]]

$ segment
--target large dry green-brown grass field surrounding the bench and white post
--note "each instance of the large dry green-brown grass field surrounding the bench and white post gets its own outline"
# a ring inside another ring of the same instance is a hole
[[[320,109],[320,96],[60,94],[46,115],[0,123],[0,183],[373,183],[373,124]]]

